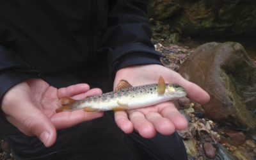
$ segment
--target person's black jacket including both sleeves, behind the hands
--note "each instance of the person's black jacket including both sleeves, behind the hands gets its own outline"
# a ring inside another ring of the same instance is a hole
[[[65,75],[93,83],[95,74],[113,78],[123,67],[159,64],[145,6],[141,0],[1,0],[0,98],[32,77],[62,87],[81,82]],[[0,128],[19,133],[3,114]]]

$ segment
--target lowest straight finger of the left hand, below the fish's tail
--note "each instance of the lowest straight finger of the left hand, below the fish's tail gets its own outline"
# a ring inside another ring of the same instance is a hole
[[[83,110],[61,112],[51,117],[51,122],[54,124],[56,129],[65,129],[74,125],[80,124],[99,118],[103,115],[103,112],[89,113]]]

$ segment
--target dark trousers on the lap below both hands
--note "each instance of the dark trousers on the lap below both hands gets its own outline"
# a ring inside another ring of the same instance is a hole
[[[83,127],[87,131],[81,136]],[[72,129],[59,131],[58,136],[60,138],[56,145],[50,148],[45,148],[35,137],[22,135],[15,138],[16,142],[20,141],[15,145],[12,142],[16,160],[188,159],[184,144],[177,132],[170,136],[157,134],[152,139],[142,138],[137,132],[125,134],[115,125],[112,113],[105,113],[104,117],[93,120],[90,127],[80,124]],[[24,146],[24,143],[29,145]]]

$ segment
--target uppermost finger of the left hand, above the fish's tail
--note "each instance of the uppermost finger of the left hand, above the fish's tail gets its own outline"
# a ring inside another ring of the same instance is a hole
[[[58,98],[61,99],[63,97],[72,97],[79,93],[87,92],[88,90],[90,90],[90,86],[88,84],[81,83],[81,84],[68,86],[65,88],[60,88],[58,89],[57,94],[58,94]]]

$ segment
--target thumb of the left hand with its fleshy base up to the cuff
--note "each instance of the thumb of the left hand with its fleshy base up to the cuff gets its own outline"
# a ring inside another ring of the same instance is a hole
[[[13,86],[3,97],[6,119],[27,136],[37,136],[46,147],[56,141],[56,129],[31,97],[28,83]]]

